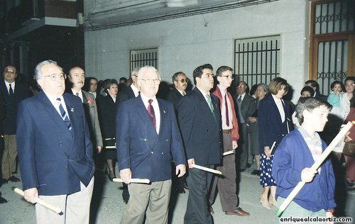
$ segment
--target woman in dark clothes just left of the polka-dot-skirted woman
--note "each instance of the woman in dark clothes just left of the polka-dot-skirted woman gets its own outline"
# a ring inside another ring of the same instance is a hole
[[[264,83],[256,86],[256,99],[253,99],[248,108],[249,129],[251,131],[251,155],[254,155],[256,160],[256,169],[251,172],[251,175],[260,176],[260,154],[259,147],[259,132],[258,132],[258,104],[268,94],[268,86]]]

